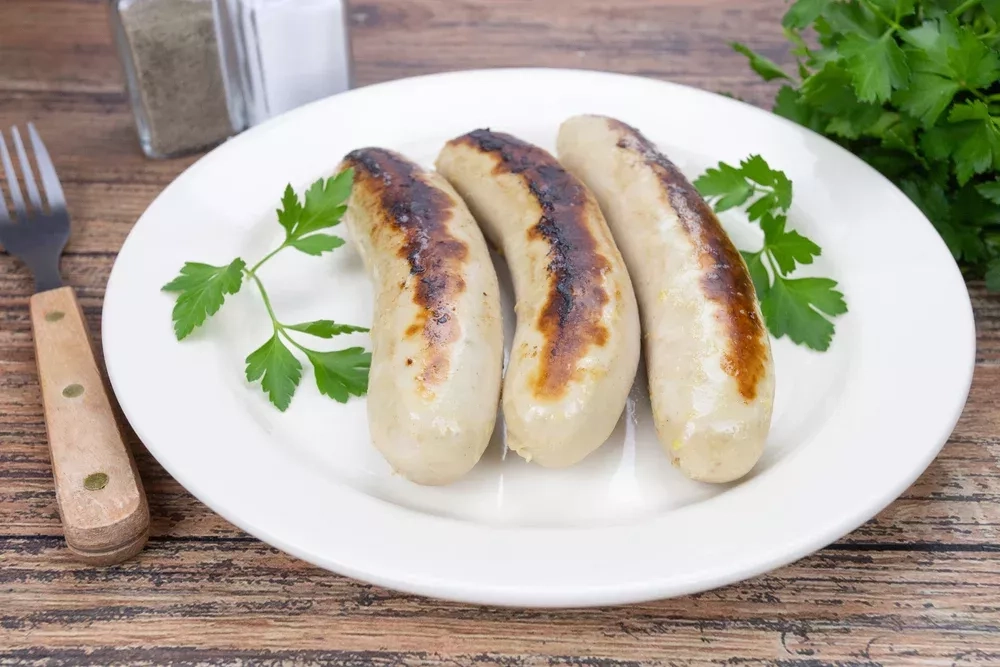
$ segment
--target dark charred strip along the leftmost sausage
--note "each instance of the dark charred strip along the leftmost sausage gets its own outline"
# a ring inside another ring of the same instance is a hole
[[[354,167],[355,183],[378,198],[383,215],[372,236],[402,237],[398,255],[409,264],[409,279],[416,281],[413,302],[420,308],[405,335],[423,336],[428,354],[421,381],[440,384],[448,376],[447,350],[461,335],[455,303],[466,288],[462,273],[469,256],[468,246],[448,226],[455,202],[429,183],[419,165],[397,153],[362,148],[349,153],[344,162]],[[407,366],[412,363],[407,360]]]

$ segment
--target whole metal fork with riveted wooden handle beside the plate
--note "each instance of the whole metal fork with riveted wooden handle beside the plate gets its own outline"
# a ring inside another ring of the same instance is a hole
[[[14,127],[10,135],[28,201],[0,132],[0,163],[12,204],[8,209],[0,189],[0,244],[35,276],[36,293],[29,302],[31,328],[66,544],[88,562],[119,562],[146,543],[146,496],[118,428],[76,293],[62,286],[59,256],[69,239],[70,224],[55,167],[29,123],[43,203],[21,134]]]

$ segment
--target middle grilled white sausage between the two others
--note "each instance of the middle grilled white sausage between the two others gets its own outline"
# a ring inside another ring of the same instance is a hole
[[[639,362],[635,295],[604,216],[555,158],[510,135],[454,139],[437,168],[513,276],[507,444],[545,467],[572,465],[614,429]]]

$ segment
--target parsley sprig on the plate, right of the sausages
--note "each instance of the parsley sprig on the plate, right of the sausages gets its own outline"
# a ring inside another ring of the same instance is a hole
[[[764,232],[760,250],[741,253],[774,337],[788,336],[799,345],[827,350],[834,334],[831,318],[846,313],[847,303],[835,280],[788,277],[822,253],[814,242],[787,228],[792,205],[788,177],[761,156],[751,155],[739,167],[720,162],[694,184],[717,212],[742,206]]]

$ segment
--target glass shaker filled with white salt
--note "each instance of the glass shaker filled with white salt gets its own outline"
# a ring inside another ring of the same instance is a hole
[[[351,87],[345,0],[216,2],[226,79],[251,125]]]

